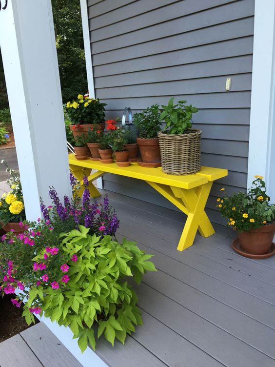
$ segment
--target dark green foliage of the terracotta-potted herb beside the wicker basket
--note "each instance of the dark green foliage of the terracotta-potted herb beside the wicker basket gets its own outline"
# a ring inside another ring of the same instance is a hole
[[[144,111],[134,114],[134,124],[139,131],[138,137],[143,139],[157,138],[160,131],[161,122],[159,121],[159,105],[153,104]]]

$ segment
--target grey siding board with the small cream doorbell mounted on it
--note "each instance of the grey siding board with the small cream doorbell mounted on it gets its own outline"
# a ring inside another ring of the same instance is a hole
[[[100,99],[150,96],[172,96],[184,94],[203,94],[225,92],[226,78],[231,78],[231,92],[250,91],[251,74],[227,75],[221,77],[177,80],[150,84],[126,85],[120,87],[99,88]],[[227,92],[225,92],[227,93]]]

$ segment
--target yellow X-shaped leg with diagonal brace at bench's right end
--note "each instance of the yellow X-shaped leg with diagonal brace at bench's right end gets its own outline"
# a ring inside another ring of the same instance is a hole
[[[148,183],[171,203],[176,205],[177,208],[187,214],[187,220],[177,246],[179,251],[193,245],[197,229],[203,237],[208,237],[215,233],[204,211],[212,182],[188,190],[159,183]]]

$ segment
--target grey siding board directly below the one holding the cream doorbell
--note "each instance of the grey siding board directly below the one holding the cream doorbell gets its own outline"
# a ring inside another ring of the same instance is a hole
[[[125,106],[135,106],[137,109],[145,109],[154,103],[166,104],[169,97],[143,97],[143,98],[123,98],[123,99],[101,99],[101,102],[108,104],[110,109],[124,110]],[[251,92],[231,92],[231,93],[212,93],[212,94],[193,94],[179,95],[176,100],[185,100],[192,103],[197,108],[230,108],[234,105],[237,108],[250,107]]]

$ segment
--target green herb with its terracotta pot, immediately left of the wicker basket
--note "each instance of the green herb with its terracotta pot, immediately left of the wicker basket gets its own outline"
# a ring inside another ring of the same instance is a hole
[[[135,113],[134,123],[139,131],[137,145],[143,163],[160,163],[157,133],[160,130],[159,105],[153,104],[144,111]]]

